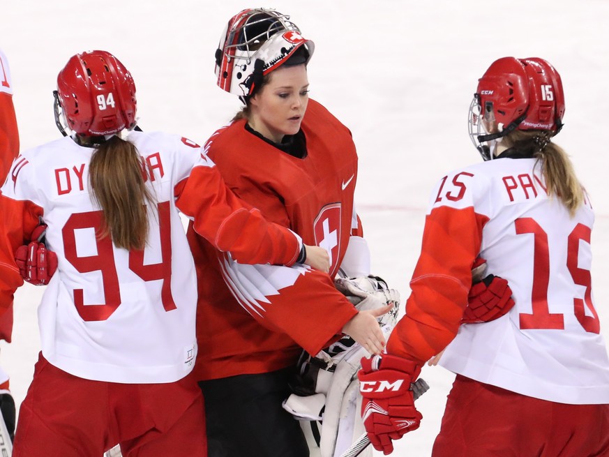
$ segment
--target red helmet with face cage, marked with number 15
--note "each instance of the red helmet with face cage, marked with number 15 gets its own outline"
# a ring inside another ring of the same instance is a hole
[[[564,93],[560,75],[537,57],[504,57],[480,78],[469,107],[469,136],[484,160],[495,155],[497,143],[513,130],[544,130],[551,136],[562,128]]]

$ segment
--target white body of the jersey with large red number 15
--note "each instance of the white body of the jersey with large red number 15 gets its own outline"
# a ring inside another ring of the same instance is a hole
[[[548,197],[534,159],[500,158],[449,174],[432,210],[473,207],[480,256],[516,306],[464,324],[440,364],[454,373],[559,403],[609,403],[609,359],[590,280],[589,202],[575,216]],[[437,197],[436,197],[437,195]]]

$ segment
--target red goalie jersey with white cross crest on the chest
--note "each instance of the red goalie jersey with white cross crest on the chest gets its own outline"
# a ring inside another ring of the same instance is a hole
[[[304,243],[325,247],[331,267],[330,276],[302,267],[258,266],[247,277],[227,272],[225,257],[189,227],[199,285],[199,380],[293,365],[302,348],[317,354],[356,314],[331,280],[356,218],[355,146],[349,130],[314,100],[309,100],[301,130],[307,151],[303,158],[249,132],[244,120],[218,130],[206,144],[236,195],[269,220],[290,227]],[[258,282],[262,294],[238,292],[237,301],[223,276],[228,283],[234,278],[248,285]]]

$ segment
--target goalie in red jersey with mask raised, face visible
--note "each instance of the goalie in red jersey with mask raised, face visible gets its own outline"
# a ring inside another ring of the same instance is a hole
[[[234,15],[216,51],[218,86],[244,106],[211,135],[207,153],[239,197],[307,243],[326,248],[331,266],[327,275],[241,265],[188,231],[199,283],[202,350],[195,374],[205,398],[211,457],[308,456],[299,422],[287,412],[297,411],[286,407],[302,350],[315,356],[350,336],[363,352],[379,354],[389,329],[385,313],[397,313],[396,291],[369,277],[368,247],[354,209],[351,132],[308,96],[314,50],[290,17],[259,8]],[[339,271],[361,279],[343,282],[344,289],[350,294],[362,285],[361,304],[373,306],[357,308],[337,290]],[[347,387],[351,380],[341,381]],[[339,427],[326,426],[331,416],[338,424],[341,398],[332,400],[338,407],[326,409],[322,435],[334,434],[333,453]],[[315,415],[324,400],[319,403]],[[324,436],[321,442],[323,448]]]

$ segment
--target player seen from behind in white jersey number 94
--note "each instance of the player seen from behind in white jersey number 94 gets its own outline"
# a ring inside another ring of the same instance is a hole
[[[135,130],[135,83],[112,54],[73,56],[57,84],[66,137],[22,153],[0,195],[0,306],[22,283],[13,252],[39,220],[59,260],[13,456],[100,456],[116,444],[123,456],[206,456],[189,375],[195,269],[177,210],[240,262],[306,253],[327,269],[327,254],[244,207],[197,144]]]

